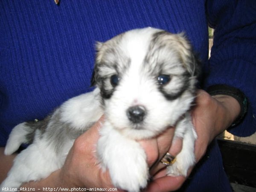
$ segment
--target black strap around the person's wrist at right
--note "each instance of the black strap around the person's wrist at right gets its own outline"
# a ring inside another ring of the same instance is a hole
[[[228,95],[235,98],[241,107],[241,111],[239,116],[236,120],[232,123],[231,127],[238,125],[242,119],[244,118],[245,114],[247,113],[248,102],[247,98],[245,97],[244,93],[241,92],[239,89],[235,87],[230,87],[224,84],[216,84],[208,87],[207,92],[211,95]]]

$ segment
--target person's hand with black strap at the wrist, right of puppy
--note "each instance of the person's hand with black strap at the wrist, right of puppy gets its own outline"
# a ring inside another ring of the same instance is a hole
[[[240,105],[231,96],[210,96],[203,90],[198,90],[196,106],[192,110],[192,122],[195,126],[198,139],[195,142],[195,158],[198,162],[205,154],[211,141],[226,128],[228,128],[240,113]],[[161,147],[159,145],[159,147]],[[172,151],[175,146],[169,149]],[[163,147],[165,148],[165,146]],[[172,153],[171,153],[172,154]],[[189,173],[192,168],[189,170]],[[157,172],[153,181],[145,191],[168,192],[179,189],[186,177],[166,176],[166,170]]]

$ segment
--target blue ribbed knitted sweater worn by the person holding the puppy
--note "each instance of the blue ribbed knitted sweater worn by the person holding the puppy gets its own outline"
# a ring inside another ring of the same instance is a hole
[[[185,3],[186,2],[186,3]],[[208,60],[207,24],[215,28]],[[256,3],[253,0],[3,0],[0,1],[0,146],[20,122],[43,119],[67,99],[92,90],[96,41],[151,26],[186,32],[203,63],[202,84],[227,84],[247,96],[244,121],[256,131]],[[218,146],[183,186],[229,191]]]

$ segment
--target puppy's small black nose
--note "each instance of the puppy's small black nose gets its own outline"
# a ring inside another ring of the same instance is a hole
[[[146,111],[143,106],[136,105],[128,108],[126,114],[131,122],[139,123],[143,121]]]

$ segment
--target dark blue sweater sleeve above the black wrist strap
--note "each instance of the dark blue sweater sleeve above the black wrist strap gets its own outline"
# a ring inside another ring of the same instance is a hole
[[[215,29],[205,88],[226,84],[241,90],[249,106],[232,134],[250,136],[256,131],[256,3],[251,0],[208,0],[209,26]]]

